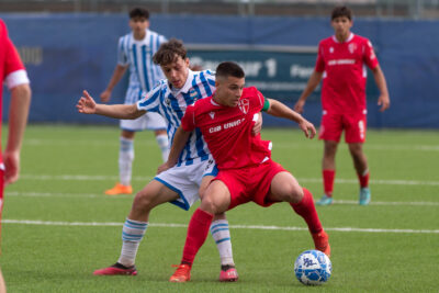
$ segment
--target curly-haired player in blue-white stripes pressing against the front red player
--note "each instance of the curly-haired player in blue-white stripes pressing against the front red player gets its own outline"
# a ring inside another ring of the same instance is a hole
[[[196,100],[207,98],[214,92],[215,76],[210,70],[190,70],[187,50],[183,44],[177,40],[170,40],[162,44],[154,55],[154,61],[160,65],[167,79],[161,80],[136,104],[97,104],[85,91],[77,104],[78,111],[114,119],[136,119],[148,112],[157,112],[166,119],[168,135],[172,142],[188,105]],[[252,131],[259,133],[260,126],[261,123],[258,121]],[[216,172],[215,161],[201,132],[194,129],[189,136],[178,164],[157,174],[136,194],[123,226],[123,245],[117,263],[97,270],[94,274],[136,274],[135,257],[148,226],[149,212],[166,202],[189,210]],[[238,274],[232,255],[228,222],[224,213],[215,215],[211,225],[211,234],[221,256],[219,280],[236,281]]]

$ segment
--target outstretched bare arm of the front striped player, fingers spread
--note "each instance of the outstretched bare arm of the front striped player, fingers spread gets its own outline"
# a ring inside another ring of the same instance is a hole
[[[98,114],[112,119],[134,120],[146,113],[139,110],[137,104],[97,104],[93,98],[85,90],[83,97],[79,99],[76,105],[79,113]]]

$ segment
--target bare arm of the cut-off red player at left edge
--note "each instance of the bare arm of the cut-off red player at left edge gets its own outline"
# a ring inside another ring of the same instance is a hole
[[[30,104],[31,87],[29,83],[22,83],[11,89],[8,145],[3,154],[5,167],[4,184],[13,183],[19,179],[20,150],[27,123]]]

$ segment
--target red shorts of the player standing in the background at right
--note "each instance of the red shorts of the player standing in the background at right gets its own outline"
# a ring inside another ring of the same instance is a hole
[[[345,129],[347,144],[365,142],[367,120],[365,113],[359,114],[329,114],[324,113],[318,134],[319,139],[340,142],[341,132]]]

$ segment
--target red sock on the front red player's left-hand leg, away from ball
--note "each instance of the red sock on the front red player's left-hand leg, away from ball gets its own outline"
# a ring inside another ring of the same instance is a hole
[[[196,252],[207,238],[212,219],[213,215],[200,210],[200,207],[193,213],[191,222],[189,222],[181,263],[192,266]]]

